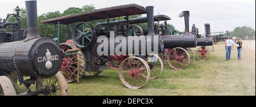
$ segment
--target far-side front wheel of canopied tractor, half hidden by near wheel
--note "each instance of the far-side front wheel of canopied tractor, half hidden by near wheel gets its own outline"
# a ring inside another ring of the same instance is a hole
[[[156,79],[163,72],[163,61],[162,59],[156,55],[148,55],[147,64],[150,67],[150,79]]]

